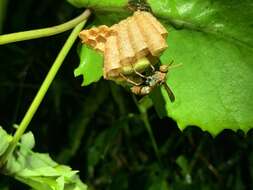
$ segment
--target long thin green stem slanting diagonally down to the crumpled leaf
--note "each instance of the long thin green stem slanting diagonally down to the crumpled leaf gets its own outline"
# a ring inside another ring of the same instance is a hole
[[[65,42],[64,46],[62,47],[60,53],[56,57],[52,67],[50,68],[45,80],[43,81],[39,91],[37,92],[32,104],[30,105],[28,111],[26,112],[23,120],[21,121],[16,133],[13,136],[13,139],[8,147],[7,151],[4,153],[3,157],[0,160],[0,165],[4,164],[7,160],[9,155],[12,154],[13,150],[17,146],[18,141],[20,140],[21,136],[25,132],[27,126],[29,125],[30,121],[32,120],[34,114],[36,113],[40,103],[42,102],[50,84],[52,83],[56,73],[58,72],[60,66],[62,65],[65,57],[67,56],[69,50],[71,49],[72,45],[74,44],[76,38],[78,37],[79,32],[84,27],[84,24],[87,21],[89,14],[86,14],[86,20],[79,23],[71,32],[70,36],[68,37],[67,41]]]

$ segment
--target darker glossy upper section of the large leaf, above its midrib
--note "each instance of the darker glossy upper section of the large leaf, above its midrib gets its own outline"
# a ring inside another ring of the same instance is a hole
[[[154,14],[174,26],[252,48],[252,1],[148,0]],[[236,27],[235,27],[236,26]]]

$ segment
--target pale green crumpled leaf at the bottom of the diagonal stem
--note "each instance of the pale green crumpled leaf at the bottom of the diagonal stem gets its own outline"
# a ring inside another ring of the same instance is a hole
[[[0,127],[0,139],[6,139],[8,134]],[[7,137],[6,142],[8,142]],[[77,176],[78,171],[59,165],[48,154],[34,153],[35,145],[31,132],[22,136],[19,148],[10,156],[3,172],[38,190],[86,190]],[[5,147],[5,146],[3,146]],[[1,146],[0,146],[1,150]]]

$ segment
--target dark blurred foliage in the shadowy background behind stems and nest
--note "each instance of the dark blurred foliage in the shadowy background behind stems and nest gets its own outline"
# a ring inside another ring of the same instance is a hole
[[[12,0],[3,32],[59,24],[81,11],[60,0]],[[67,35],[0,46],[0,124],[9,133]],[[73,48],[30,124],[36,151],[80,170],[90,190],[253,189],[253,131],[224,130],[212,137],[192,126],[181,132],[151,107],[159,161],[131,94],[104,80],[82,88],[73,74],[78,62]],[[29,188],[1,175],[0,189]]]

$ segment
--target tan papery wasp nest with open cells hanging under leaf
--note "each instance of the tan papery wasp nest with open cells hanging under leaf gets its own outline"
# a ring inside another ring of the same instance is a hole
[[[80,32],[79,37],[104,54],[104,78],[118,77],[122,67],[149,54],[159,56],[167,48],[167,30],[149,12],[133,16],[111,27],[102,25]]]

